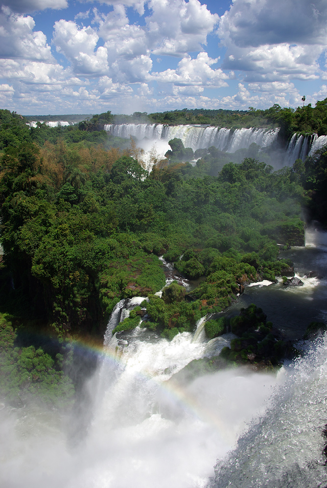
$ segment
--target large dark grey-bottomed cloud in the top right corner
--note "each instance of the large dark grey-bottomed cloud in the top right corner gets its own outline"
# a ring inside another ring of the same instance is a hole
[[[327,3],[235,0],[218,35],[227,47],[222,68],[245,72],[245,82],[317,79],[327,45]]]

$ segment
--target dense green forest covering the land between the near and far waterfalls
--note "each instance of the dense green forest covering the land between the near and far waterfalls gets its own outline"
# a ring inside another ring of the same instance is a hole
[[[325,102],[310,111],[325,114]],[[297,111],[269,110],[276,123],[290,114],[287,131],[299,120]],[[253,157],[223,165],[213,148],[194,167],[172,158],[148,174],[133,141],[95,130],[111,117],[30,129],[22,116],[0,111],[0,386],[16,399],[53,378],[59,390],[47,400],[63,391],[70,398],[62,368],[71,341],[101,338],[123,298],[148,300],[119,330],[136,327],[145,308],[142,324],[172,338],[228,307],[245,283],[292,272],[277,244],[303,245],[302,208],[326,208],[324,149],[274,171]],[[165,283],[161,255],[194,280],[191,292],[173,283],[155,295]],[[57,345],[40,344],[41,334]]]

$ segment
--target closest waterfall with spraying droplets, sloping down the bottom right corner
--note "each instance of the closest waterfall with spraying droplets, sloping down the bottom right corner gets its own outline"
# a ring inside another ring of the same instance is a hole
[[[295,363],[272,406],[215,468],[210,488],[326,487],[327,337]]]

